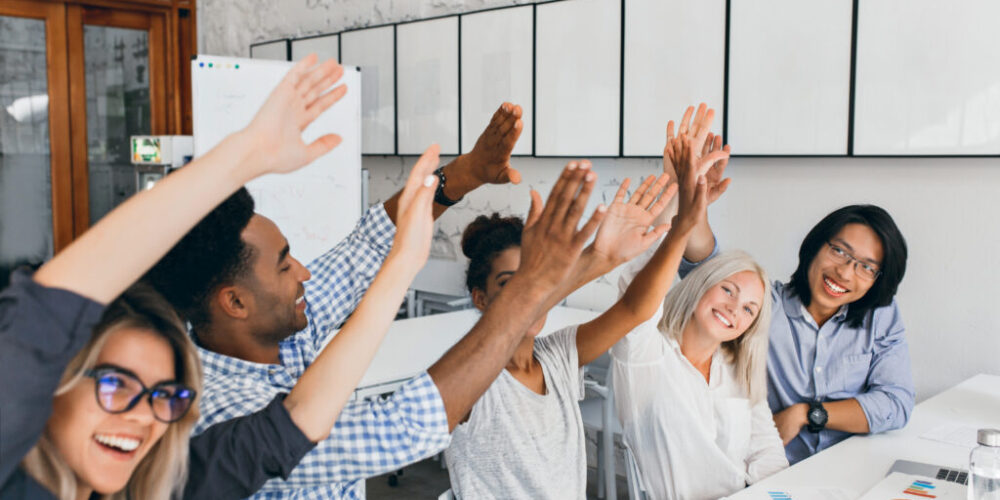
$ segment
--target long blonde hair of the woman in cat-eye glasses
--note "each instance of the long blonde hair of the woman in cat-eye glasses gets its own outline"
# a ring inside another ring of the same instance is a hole
[[[108,306],[100,323],[94,327],[90,341],[63,371],[56,396],[65,394],[84,379],[84,373],[96,364],[108,334],[121,328],[141,328],[162,336],[174,352],[176,379],[201,392],[201,362],[183,324],[163,297],[149,286],[138,284]],[[121,491],[103,498],[168,500],[178,496],[174,493],[183,490],[187,479],[188,441],[191,428],[197,421],[196,399],[184,418],[167,426],[163,436],[136,466],[128,484]],[[59,454],[47,431],[24,457],[21,465],[28,475],[60,500],[76,497],[76,474]]]

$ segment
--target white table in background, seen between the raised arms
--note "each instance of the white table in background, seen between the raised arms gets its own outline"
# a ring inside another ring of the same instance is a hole
[[[472,329],[481,314],[476,309],[465,309],[394,321],[371,366],[354,390],[352,399],[392,392],[410,378],[430,368]],[[556,306],[549,311],[540,335],[590,321],[597,314],[584,309]]]

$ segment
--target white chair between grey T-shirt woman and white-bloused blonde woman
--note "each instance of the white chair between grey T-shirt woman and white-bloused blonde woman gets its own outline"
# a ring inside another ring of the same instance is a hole
[[[621,425],[615,416],[609,363],[610,358],[605,354],[587,365],[584,380],[587,397],[580,401],[580,415],[584,428],[597,432],[597,497],[615,499],[618,496],[615,436],[621,436]]]

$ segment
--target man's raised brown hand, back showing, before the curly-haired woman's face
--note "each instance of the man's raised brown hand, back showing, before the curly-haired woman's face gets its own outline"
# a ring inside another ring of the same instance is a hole
[[[531,209],[521,236],[521,265],[514,278],[529,279],[552,291],[566,280],[583,245],[607,214],[607,207],[600,205],[577,229],[596,180],[589,161],[574,161],[563,169],[547,203],[531,191]]]

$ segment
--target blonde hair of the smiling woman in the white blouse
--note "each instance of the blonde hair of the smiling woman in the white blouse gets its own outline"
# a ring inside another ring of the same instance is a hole
[[[767,396],[767,342],[771,324],[771,284],[764,269],[750,255],[739,250],[722,252],[695,268],[674,286],[663,301],[660,332],[681,341],[684,328],[694,315],[702,296],[722,280],[743,271],[753,271],[764,284],[764,299],[757,318],[739,337],[724,342],[726,360],[736,367],[736,378],[752,403]]]

